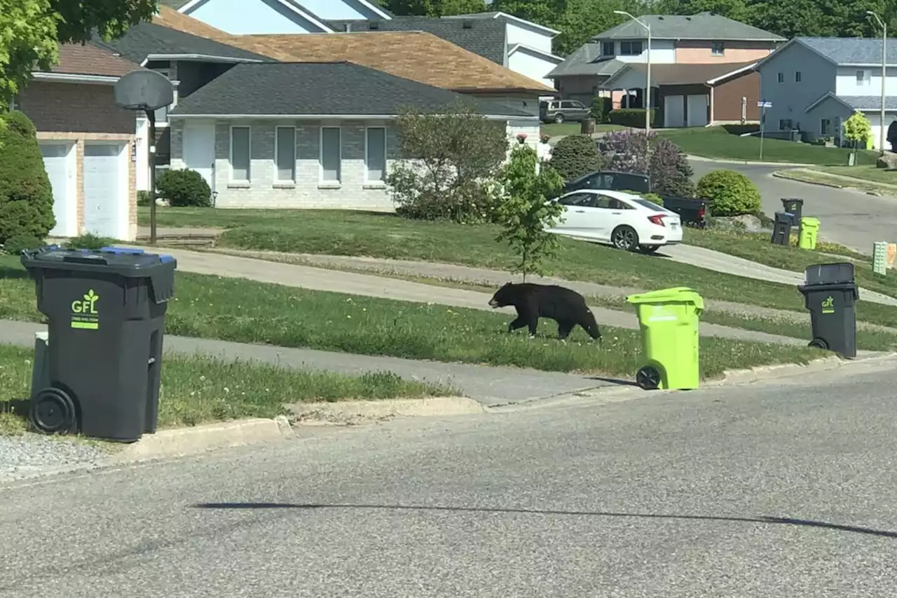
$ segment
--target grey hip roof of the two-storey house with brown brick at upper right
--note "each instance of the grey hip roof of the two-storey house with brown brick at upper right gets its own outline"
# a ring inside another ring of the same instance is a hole
[[[714,13],[646,14],[639,18],[649,25],[651,37],[655,40],[785,40],[775,33]],[[627,20],[598,33],[592,40],[639,40],[644,37],[645,28]]]

